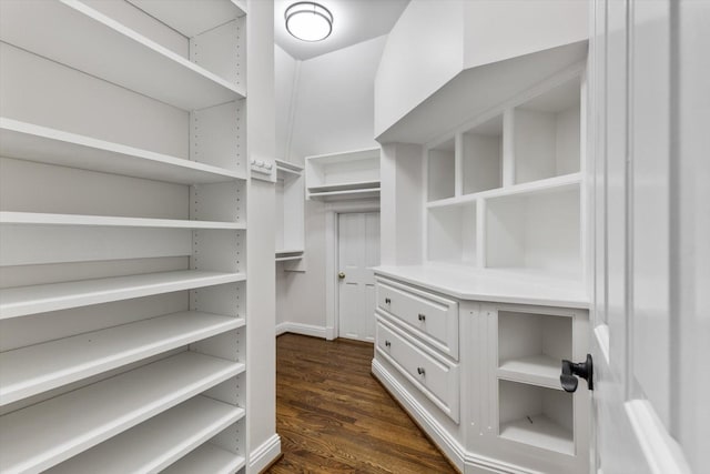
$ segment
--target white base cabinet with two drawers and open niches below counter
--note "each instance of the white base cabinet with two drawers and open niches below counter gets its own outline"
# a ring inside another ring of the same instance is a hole
[[[505,284],[442,293],[406,268],[376,274],[373,373],[459,468],[587,472],[590,392],[559,382],[562,359],[585,359],[587,310],[529,304]]]

